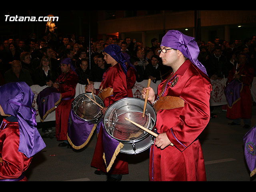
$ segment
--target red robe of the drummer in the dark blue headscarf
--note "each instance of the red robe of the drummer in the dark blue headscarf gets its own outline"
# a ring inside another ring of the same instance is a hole
[[[103,86],[103,87],[102,87]],[[124,74],[120,64],[116,64],[110,68],[104,73],[103,80],[101,82],[100,87],[102,87],[102,90],[108,87],[113,88],[113,95],[108,96],[104,99],[104,106],[110,106],[114,102],[127,97],[127,85],[126,85],[126,75]],[[103,136],[103,130],[104,127],[100,127],[100,132],[98,134],[98,139],[94,151],[94,155],[92,158],[91,166],[98,168],[99,170],[102,170],[103,172],[106,171],[106,163],[103,159],[103,142],[102,142],[102,136]],[[111,169],[109,170],[109,174],[128,174],[128,162],[126,162],[122,154],[118,154],[116,157],[116,160],[114,161],[114,164],[112,165]]]

